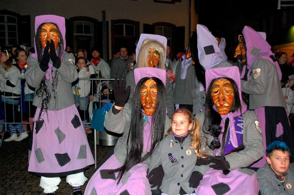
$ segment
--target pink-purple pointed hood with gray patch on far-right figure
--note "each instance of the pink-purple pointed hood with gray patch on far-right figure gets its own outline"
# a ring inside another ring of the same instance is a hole
[[[282,79],[282,72],[278,62],[273,57],[273,52],[270,50],[271,46],[268,44],[266,34],[264,32],[257,32],[249,26],[244,26],[242,31],[246,43],[246,55],[248,69],[251,70],[253,62],[258,58],[268,59],[272,62],[278,72],[280,80]],[[272,57],[270,57],[272,56]]]

